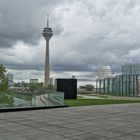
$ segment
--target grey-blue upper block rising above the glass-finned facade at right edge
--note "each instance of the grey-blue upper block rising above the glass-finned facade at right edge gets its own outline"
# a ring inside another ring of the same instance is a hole
[[[125,64],[122,66],[122,75],[140,75],[140,64]]]

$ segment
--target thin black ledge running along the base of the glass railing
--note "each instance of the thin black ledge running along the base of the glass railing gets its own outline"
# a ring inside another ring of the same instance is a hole
[[[54,108],[63,108],[63,107],[69,107],[69,106],[68,105],[59,105],[59,106],[42,106],[42,107],[5,108],[5,109],[0,109],[0,113],[29,111],[29,110],[41,110],[41,109],[54,109]]]

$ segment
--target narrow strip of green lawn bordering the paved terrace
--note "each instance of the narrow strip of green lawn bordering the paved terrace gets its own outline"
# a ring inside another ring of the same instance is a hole
[[[115,100],[115,99],[77,99],[65,100],[65,104],[69,106],[89,106],[89,105],[105,105],[105,104],[125,104],[140,103],[140,100]]]

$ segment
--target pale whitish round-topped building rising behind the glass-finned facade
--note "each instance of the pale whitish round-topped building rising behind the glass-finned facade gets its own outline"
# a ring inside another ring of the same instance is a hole
[[[111,66],[104,65],[99,68],[99,72],[98,72],[99,79],[104,79],[112,76],[113,74],[112,74]]]

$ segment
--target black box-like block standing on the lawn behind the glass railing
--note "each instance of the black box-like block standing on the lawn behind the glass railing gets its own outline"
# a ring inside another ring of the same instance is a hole
[[[56,90],[64,92],[65,99],[77,99],[77,79],[56,79]]]

